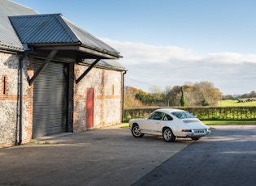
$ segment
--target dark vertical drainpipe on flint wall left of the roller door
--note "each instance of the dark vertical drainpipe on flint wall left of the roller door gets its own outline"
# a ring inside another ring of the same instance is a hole
[[[20,70],[20,133],[19,133],[19,137],[20,137],[20,140],[18,142],[18,145],[21,145],[22,144],[22,105],[23,105],[23,59],[24,59],[24,56],[20,57],[20,61],[19,61],[19,70]]]

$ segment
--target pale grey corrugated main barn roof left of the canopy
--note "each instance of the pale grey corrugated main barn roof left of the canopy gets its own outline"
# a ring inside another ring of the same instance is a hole
[[[24,46],[11,26],[10,15],[35,15],[36,11],[8,0],[0,0],[0,48],[23,50]]]

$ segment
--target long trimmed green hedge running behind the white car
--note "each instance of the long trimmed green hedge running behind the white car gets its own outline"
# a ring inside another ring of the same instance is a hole
[[[146,118],[158,108],[125,108],[124,120]],[[200,120],[256,120],[256,107],[185,107]]]

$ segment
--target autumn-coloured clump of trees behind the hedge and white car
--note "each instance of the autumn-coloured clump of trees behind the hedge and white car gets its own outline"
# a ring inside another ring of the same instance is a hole
[[[164,90],[152,87],[150,93],[124,87],[124,108],[217,106],[221,97],[222,93],[211,82],[166,87]]]

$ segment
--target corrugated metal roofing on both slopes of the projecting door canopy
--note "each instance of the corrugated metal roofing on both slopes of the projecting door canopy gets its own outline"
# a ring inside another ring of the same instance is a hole
[[[10,16],[15,31],[24,44],[80,44],[102,53],[118,55],[115,49],[98,40],[61,14]]]

